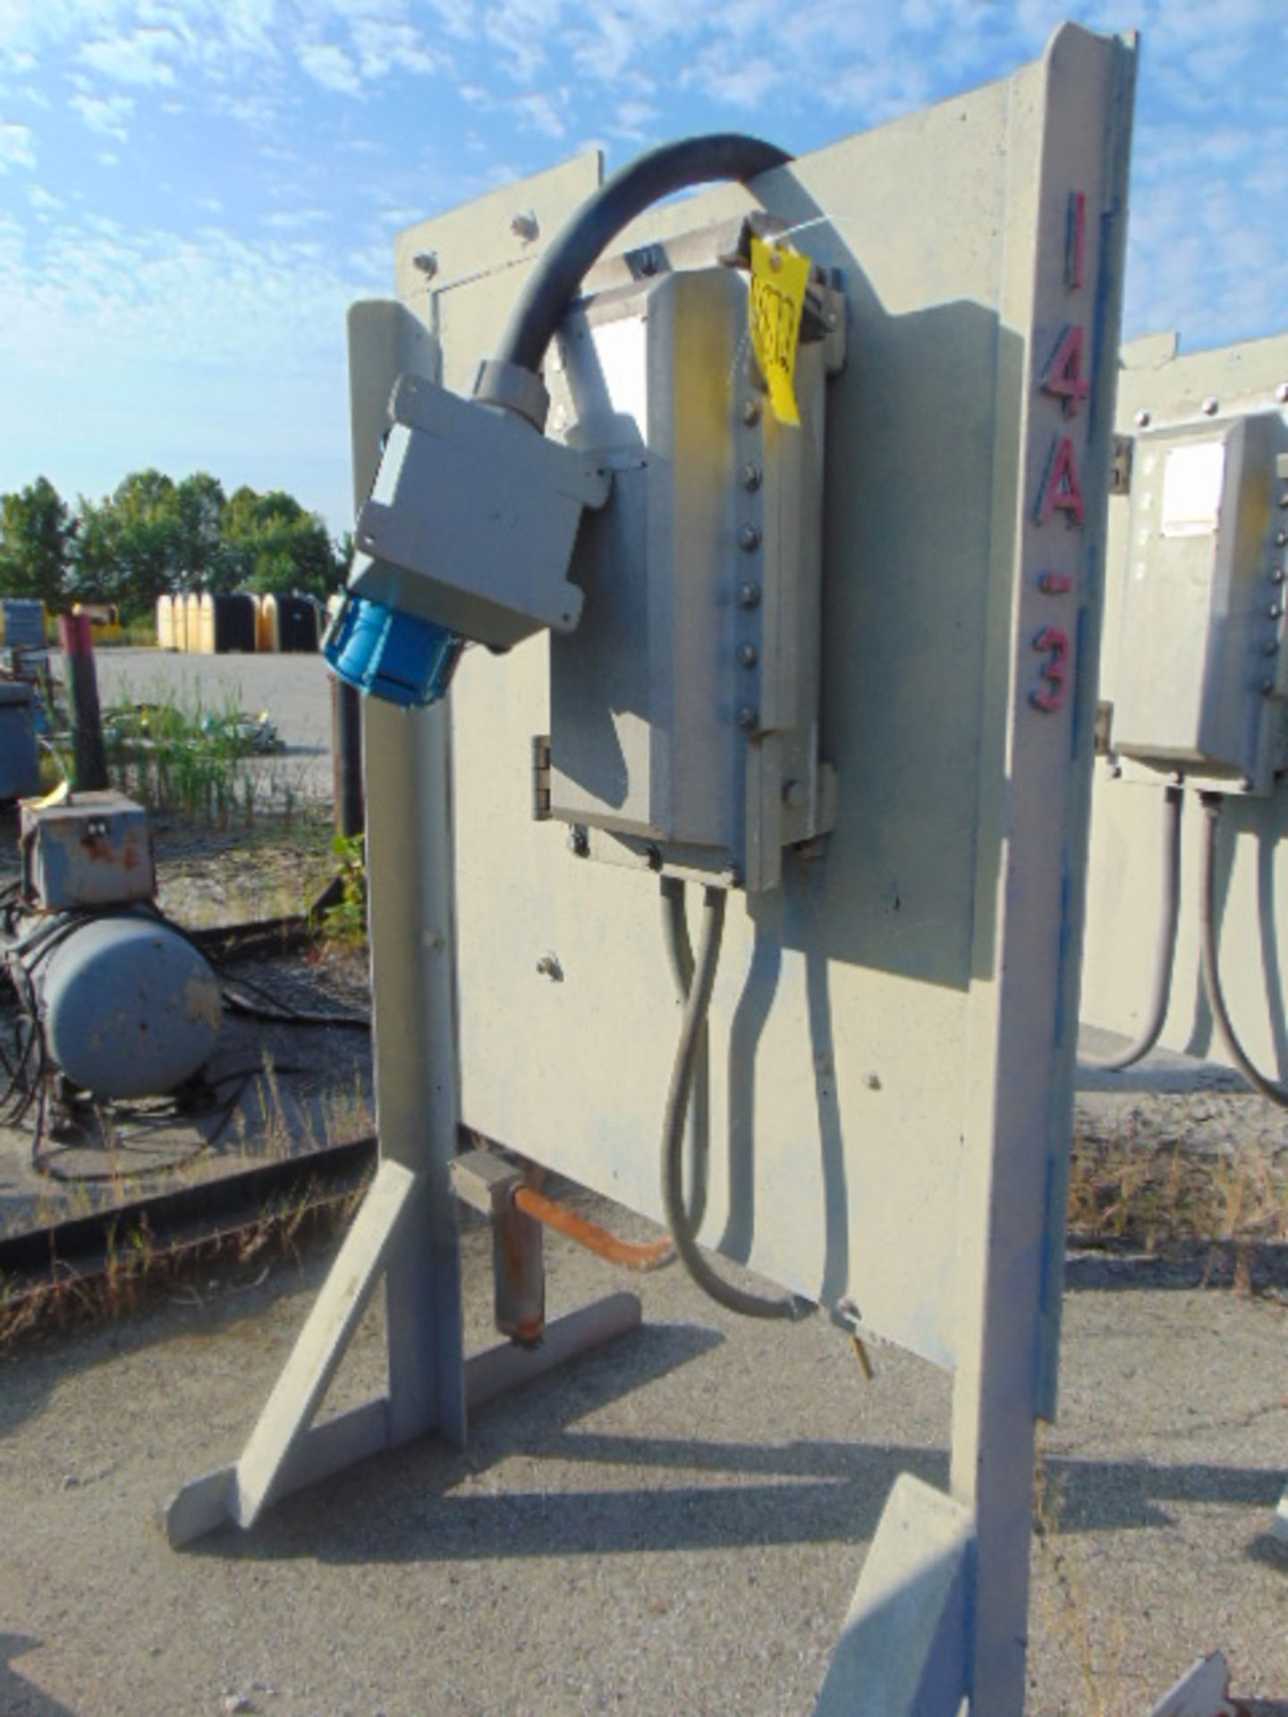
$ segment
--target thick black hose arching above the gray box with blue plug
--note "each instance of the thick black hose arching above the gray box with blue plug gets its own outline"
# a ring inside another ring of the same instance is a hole
[[[587,197],[536,264],[493,361],[536,374],[589,270],[622,228],[654,203],[720,179],[745,182],[790,160],[775,144],[737,132],[683,137],[637,156]]]

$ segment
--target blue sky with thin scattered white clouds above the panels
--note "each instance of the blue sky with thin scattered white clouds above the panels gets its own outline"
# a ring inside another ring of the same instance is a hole
[[[804,153],[1140,29],[1127,335],[1288,326],[1288,0],[0,0],[0,491],[125,472],[349,524],[343,314],[392,237],[599,146]]]

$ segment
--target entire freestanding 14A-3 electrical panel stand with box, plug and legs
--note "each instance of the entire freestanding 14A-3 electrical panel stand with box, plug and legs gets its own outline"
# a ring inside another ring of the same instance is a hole
[[[895,1483],[819,1710],[1022,1710],[1133,62],[1066,26],[799,160],[582,156],[354,307],[326,652],[369,694],[381,1166],[173,1544],[639,1319],[546,1322],[534,1162],[721,1305],[953,1375],[948,1489]],[[469,1360],[459,1200],[508,1338]],[[388,1389],[313,1423],[378,1281]]]

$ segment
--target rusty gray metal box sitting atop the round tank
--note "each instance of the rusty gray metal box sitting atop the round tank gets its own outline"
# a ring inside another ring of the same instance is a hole
[[[148,812],[124,793],[22,805],[22,898],[45,912],[124,907],[156,891]]]

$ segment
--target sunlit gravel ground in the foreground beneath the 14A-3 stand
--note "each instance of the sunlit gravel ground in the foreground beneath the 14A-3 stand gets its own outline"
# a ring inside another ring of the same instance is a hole
[[[879,1351],[866,1384],[835,1331],[750,1327],[671,1269],[642,1279],[642,1331],[481,1415],[467,1451],[422,1441],[168,1550],[158,1506],[235,1456],[321,1267],[9,1362],[5,1717],[809,1710],[895,1473],[945,1480],[945,1375]],[[1285,1717],[1288,1308],[1089,1279],[1046,1435],[1029,1712],[1144,1714],[1221,1648]],[[476,1231],[472,1344],[486,1281]],[[551,1312],[618,1284],[551,1243]],[[380,1353],[371,1314],[333,1405],[380,1387]]]

